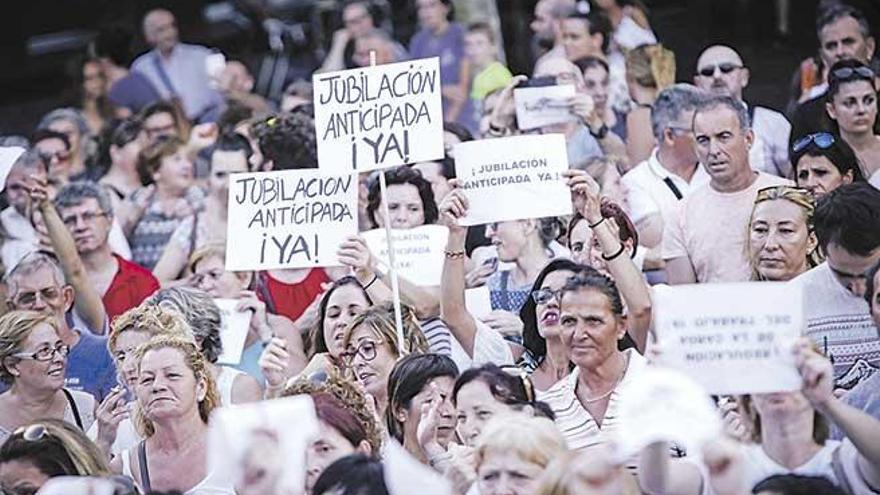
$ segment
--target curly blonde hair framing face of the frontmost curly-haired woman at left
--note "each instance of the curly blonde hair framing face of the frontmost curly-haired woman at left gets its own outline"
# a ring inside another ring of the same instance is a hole
[[[159,335],[153,337],[146,344],[138,347],[135,359],[138,363],[138,373],[140,373],[141,363],[144,356],[150,352],[159,349],[177,349],[183,354],[183,360],[186,366],[195,375],[196,381],[204,381],[205,397],[199,401],[199,417],[205,424],[208,424],[208,418],[211,412],[220,406],[220,395],[217,392],[217,382],[208,368],[208,361],[202,355],[195,342],[191,339],[180,338],[175,335]],[[149,418],[147,418],[140,401],[137,402],[134,409],[134,426],[137,432],[143,438],[149,438],[156,432],[156,427]]]

